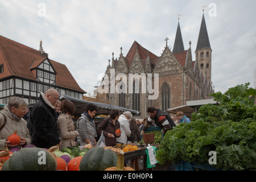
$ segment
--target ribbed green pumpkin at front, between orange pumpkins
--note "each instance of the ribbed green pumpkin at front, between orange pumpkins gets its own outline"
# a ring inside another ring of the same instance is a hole
[[[104,147],[93,147],[82,156],[80,171],[104,171],[117,165],[117,154]]]

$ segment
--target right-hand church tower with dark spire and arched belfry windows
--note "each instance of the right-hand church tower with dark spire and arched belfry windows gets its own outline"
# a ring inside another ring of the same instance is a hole
[[[204,11],[204,10],[203,10]],[[205,24],[204,13],[201,22],[199,37],[196,46],[196,60],[199,64],[199,71],[203,74],[205,81],[208,84],[212,82],[212,49],[210,48],[210,42],[207,32],[207,26]]]

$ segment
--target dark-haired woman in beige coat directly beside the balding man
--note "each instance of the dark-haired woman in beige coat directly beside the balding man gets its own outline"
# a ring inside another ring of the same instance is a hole
[[[73,122],[72,116],[74,110],[73,102],[69,100],[61,101],[60,111],[62,112],[57,119],[57,126],[60,133],[61,147],[62,150],[65,147],[76,146],[76,137],[79,132],[75,130],[75,123]]]

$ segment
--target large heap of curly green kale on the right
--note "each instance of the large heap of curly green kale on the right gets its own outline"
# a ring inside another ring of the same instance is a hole
[[[214,151],[215,168],[256,168],[256,91],[248,85],[211,94],[218,105],[201,106],[192,122],[167,131],[156,152],[159,164],[179,159],[209,164],[209,152]]]

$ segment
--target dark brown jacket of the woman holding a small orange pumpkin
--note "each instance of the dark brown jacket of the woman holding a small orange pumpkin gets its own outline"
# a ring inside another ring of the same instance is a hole
[[[108,125],[108,126],[106,126],[106,125]],[[105,128],[105,130],[104,130],[104,128]],[[120,123],[118,120],[115,121],[115,124],[114,124],[112,119],[106,118],[106,119],[103,119],[102,122],[100,122],[100,124],[98,124],[97,132],[101,134],[101,132],[103,131],[106,146],[115,146],[115,144],[117,143],[118,137],[117,137],[117,135],[115,135],[115,130],[117,130],[117,129],[120,129]],[[108,137],[108,133],[113,134],[114,138]]]

